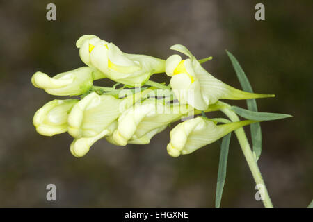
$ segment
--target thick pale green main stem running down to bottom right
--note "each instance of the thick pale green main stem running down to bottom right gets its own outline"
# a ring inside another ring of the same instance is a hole
[[[231,121],[233,121],[233,122],[240,121],[240,119],[236,115],[236,113],[233,112],[232,110],[230,110],[229,108],[225,108],[221,111],[224,112],[224,114],[227,117],[229,117]],[[262,178],[261,172],[259,171],[259,167],[257,166],[257,160],[255,160],[255,156],[253,155],[253,153],[251,151],[250,144],[249,144],[248,139],[246,137],[245,131],[241,127],[239,129],[235,130],[234,132],[236,133],[236,136],[239,140],[241,150],[243,151],[243,155],[246,157],[246,161],[248,162],[248,166],[250,167],[250,171],[252,173],[252,176],[255,179],[255,183],[257,185],[263,185],[263,187],[264,187],[264,196],[262,196],[264,207],[273,208],[271,198],[268,195],[268,191],[266,189],[266,186],[265,186],[264,180]]]

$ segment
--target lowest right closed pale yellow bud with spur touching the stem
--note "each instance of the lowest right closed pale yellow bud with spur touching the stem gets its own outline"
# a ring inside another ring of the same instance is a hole
[[[211,144],[228,133],[256,121],[245,120],[234,123],[216,125],[215,121],[204,117],[197,117],[179,123],[170,131],[170,143],[167,146],[168,154],[178,157],[189,154],[202,146]]]

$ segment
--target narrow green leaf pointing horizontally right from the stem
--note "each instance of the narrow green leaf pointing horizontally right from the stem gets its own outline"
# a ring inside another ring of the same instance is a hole
[[[238,106],[232,106],[232,110],[243,118],[253,119],[257,121],[269,121],[269,120],[284,119],[284,118],[292,117],[289,114],[280,114],[280,113],[271,113],[271,112],[254,112],[254,111],[240,108]]]

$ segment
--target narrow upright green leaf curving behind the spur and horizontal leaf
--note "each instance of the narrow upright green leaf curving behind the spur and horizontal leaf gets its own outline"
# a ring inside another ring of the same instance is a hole
[[[248,77],[241,68],[238,60],[236,60],[236,58],[229,51],[226,50],[226,53],[230,57],[230,61],[232,62],[232,66],[234,67],[243,91],[253,93]],[[247,99],[247,106],[248,110],[257,112],[257,101],[255,99]],[[262,151],[262,131],[260,123],[251,124],[250,131],[252,137],[253,153],[255,153],[256,160],[259,160],[259,156],[261,155]]]

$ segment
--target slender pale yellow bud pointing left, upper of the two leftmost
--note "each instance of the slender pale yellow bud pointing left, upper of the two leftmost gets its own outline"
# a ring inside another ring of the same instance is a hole
[[[31,78],[35,87],[45,89],[45,92],[56,96],[75,96],[87,92],[93,85],[93,80],[104,76],[97,69],[80,67],[72,71],[66,71],[54,77],[37,71]]]

